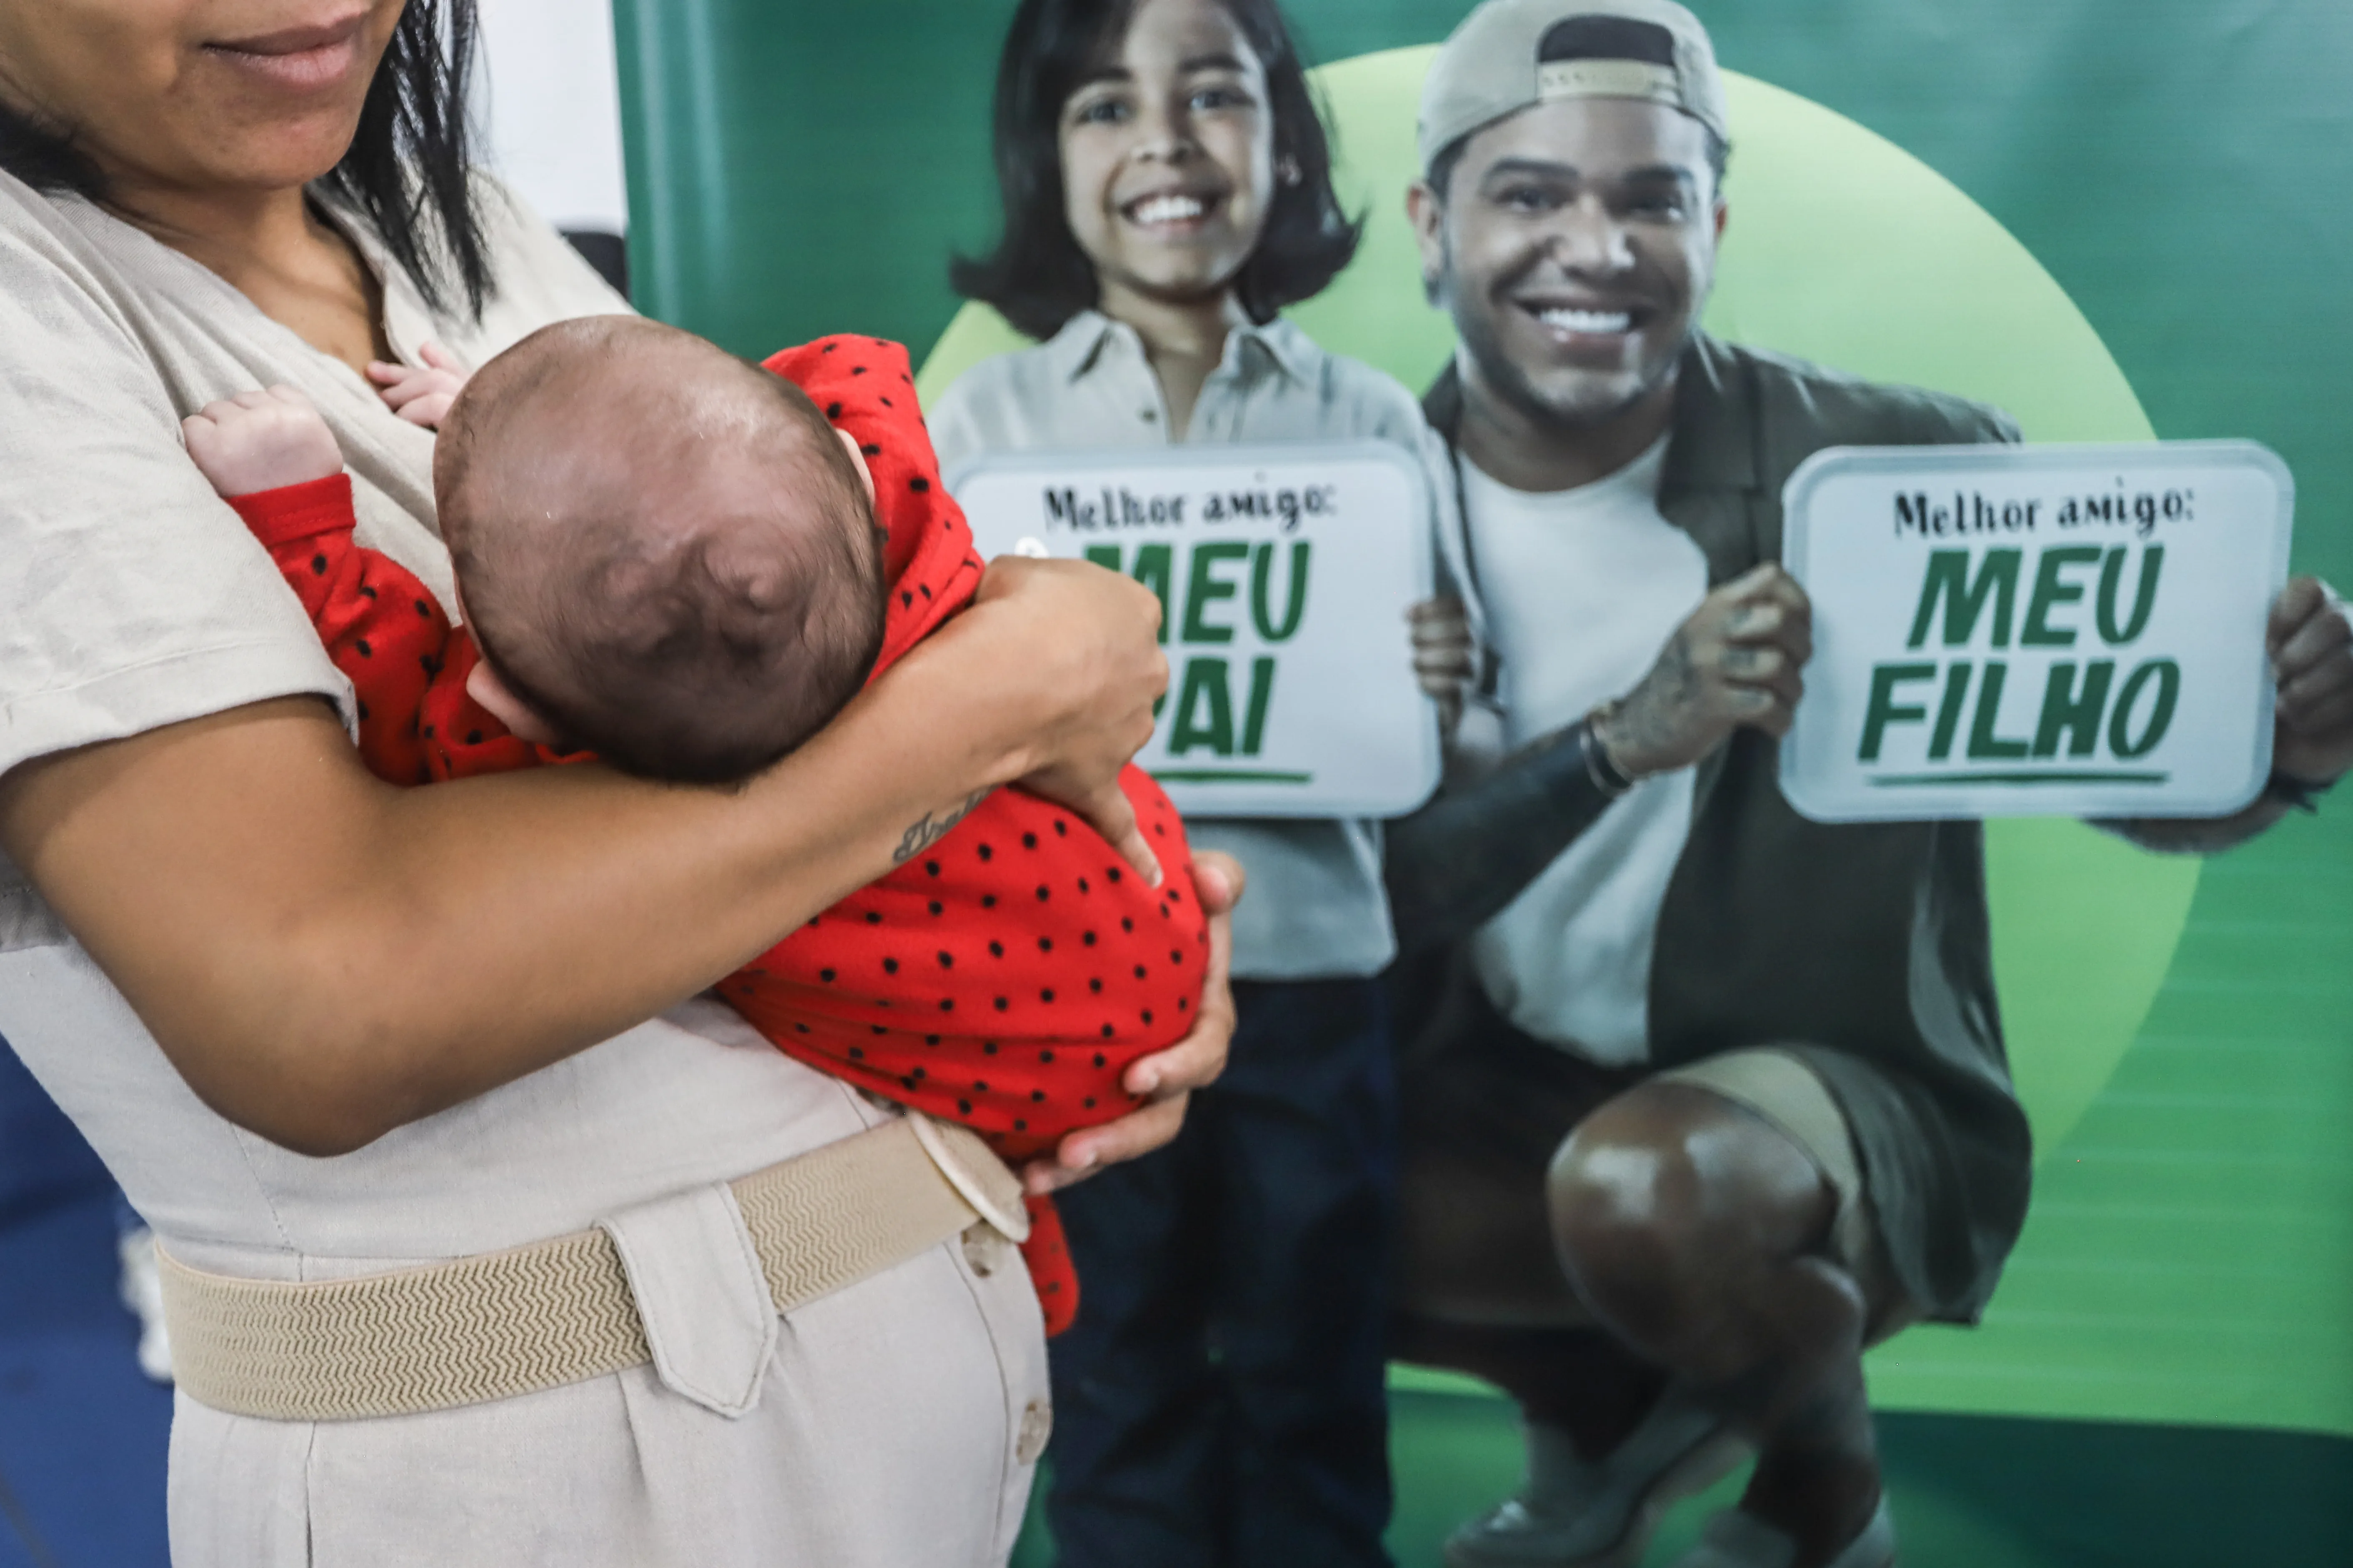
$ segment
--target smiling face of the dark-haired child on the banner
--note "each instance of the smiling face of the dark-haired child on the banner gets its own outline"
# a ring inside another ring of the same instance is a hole
[[[1273,193],[1266,63],[1217,0],[1141,0],[1061,108],[1064,216],[1106,296],[1198,301],[1249,261]]]

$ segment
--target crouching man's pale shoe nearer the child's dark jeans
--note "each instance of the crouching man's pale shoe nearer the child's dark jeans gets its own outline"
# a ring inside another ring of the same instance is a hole
[[[1600,1460],[1577,1458],[1558,1427],[1522,1429],[1527,1474],[1518,1495],[1447,1537],[1447,1568],[1628,1568],[1642,1561],[1668,1505],[1708,1488],[1748,1453],[1718,1413],[1678,1387]]]

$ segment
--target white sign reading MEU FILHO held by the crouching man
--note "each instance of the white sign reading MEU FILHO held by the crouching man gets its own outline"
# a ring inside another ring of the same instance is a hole
[[[2294,482],[2264,447],[1833,447],[1784,515],[1805,816],[2226,816],[2271,776]]]

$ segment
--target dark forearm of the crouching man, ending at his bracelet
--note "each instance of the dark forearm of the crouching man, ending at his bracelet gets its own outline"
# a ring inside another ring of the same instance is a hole
[[[1609,806],[1586,771],[1577,729],[1544,736],[1478,783],[1388,823],[1400,952],[1459,940],[1501,914]]]

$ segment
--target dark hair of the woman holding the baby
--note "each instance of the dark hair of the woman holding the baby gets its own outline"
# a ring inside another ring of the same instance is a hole
[[[320,188],[348,202],[431,306],[452,284],[473,315],[489,299],[489,256],[468,179],[466,78],[475,0],[409,0],[367,85],[360,129]],[[35,190],[108,205],[106,174],[73,136],[0,103],[0,169]]]

